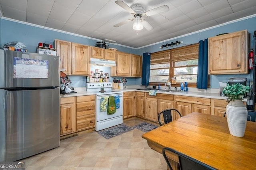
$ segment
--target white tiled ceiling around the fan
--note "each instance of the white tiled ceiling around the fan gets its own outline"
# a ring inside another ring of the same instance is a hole
[[[0,0],[3,18],[54,28],[99,40],[142,47],[256,14],[256,0],[123,0],[145,10],[168,5],[169,11],[144,17],[153,27],[132,29],[133,18],[115,0]]]

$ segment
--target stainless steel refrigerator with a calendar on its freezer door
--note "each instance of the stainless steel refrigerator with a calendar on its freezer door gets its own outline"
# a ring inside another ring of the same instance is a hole
[[[59,57],[0,50],[0,162],[60,146]]]

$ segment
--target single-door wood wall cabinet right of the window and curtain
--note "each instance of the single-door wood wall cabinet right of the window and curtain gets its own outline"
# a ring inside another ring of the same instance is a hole
[[[247,30],[208,38],[209,74],[247,74]]]

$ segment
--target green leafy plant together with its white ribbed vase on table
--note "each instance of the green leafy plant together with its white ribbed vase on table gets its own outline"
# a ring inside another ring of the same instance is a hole
[[[229,132],[233,136],[244,136],[248,111],[246,106],[243,104],[242,99],[249,90],[249,86],[235,83],[233,85],[227,85],[222,91],[224,95],[228,97],[229,101],[226,107],[226,117]]]

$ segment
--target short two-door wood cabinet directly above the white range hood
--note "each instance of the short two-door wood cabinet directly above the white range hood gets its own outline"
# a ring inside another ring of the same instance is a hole
[[[116,51],[100,47],[91,47],[91,57],[107,60],[116,60]]]

